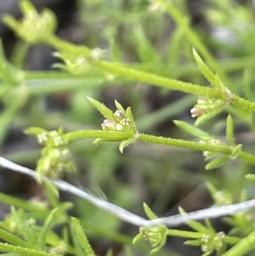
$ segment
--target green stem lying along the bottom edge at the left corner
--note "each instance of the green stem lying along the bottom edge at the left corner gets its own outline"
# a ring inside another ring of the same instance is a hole
[[[8,253],[18,253],[27,256],[58,256],[59,254],[45,253],[42,251],[33,250],[30,248],[17,247],[7,243],[0,242],[0,251]],[[59,255],[61,256],[61,255]]]

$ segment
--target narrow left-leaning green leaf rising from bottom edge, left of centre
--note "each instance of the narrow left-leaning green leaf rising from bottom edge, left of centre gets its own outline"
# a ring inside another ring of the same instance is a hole
[[[93,248],[90,246],[87,236],[85,236],[83,230],[82,230],[82,226],[80,224],[80,221],[78,219],[75,218],[71,218],[71,225],[74,228],[76,234],[77,234],[77,238],[79,240],[79,242],[82,245],[83,251],[85,253],[85,255],[88,256],[96,256],[94,253]]]

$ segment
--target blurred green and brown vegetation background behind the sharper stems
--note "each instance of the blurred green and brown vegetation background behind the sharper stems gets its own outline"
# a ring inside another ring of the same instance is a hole
[[[59,20],[57,35],[89,48],[105,49],[105,59],[125,63],[139,70],[209,86],[195,65],[192,47],[197,40],[212,56],[213,71],[235,94],[254,99],[255,6],[252,1],[176,0],[171,1],[182,20],[153,11],[145,0],[59,0],[31,1],[40,10],[54,10]],[[1,6],[0,13],[20,17],[17,1]],[[184,29],[189,22],[191,32]],[[20,84],[20,97],[9,94],[1,101],[1,156],[35,168],[40,149],[33,138],[23,134],[30,126],[48,130],[63,127],[66,132],[99,129],[103,117],[89,104],[87,95],[104,102],[115,111],[114,100],[132,107],[139,132],[179,139],[194,139],[184,134],[173,120],[194,123],[190,108],[193,95],[130,82],[110,74],[91,71],[72,76],[52,69],[54,49],[45,45],[29,46],[0,26],[3,48],[8,60],[26,71],[26,84]],[[3,82],[0,88],[3,88]],[[22,94],[22,86],[29,92]],[[22,97],[24,96],[24,97]],[[207,133],[224,140],[225,118],[235,122],[235,139],[252,152],[254,118],[250,112],[228,107],[201,126]],[[81,139],[71,144],[77,166],[75,176],[65,179],[109,202],[144,216],[142,202],[159,216],[187,212],[212,204],[205,182],[230,191],[236,201],[241,191],[252,198],[254,188],[244,175],[252,172],[246,162],[233,160],[221,168],[206,172],[201,152],[162,145],[130,145],[121,154],[117,145],[93,145]],[[0,190],[15,196],[42,196],[33,181],[18,174],[1,172]],[[75,202],[78,216],[98,255],[111,247],[113,255],[148,255],[146,243],[131,246],[137,227],[122,223],[87,202],[62,195]],[[218,220],[217,230],[229,228]],[[183,227],[182,227],[183,228]],[[186,228],[186,227],[185,227]],[[156,255],[201,255],[200,248],[182,245],[181,239],[169,238]],[[131,253],[131,254],[128,254]]]

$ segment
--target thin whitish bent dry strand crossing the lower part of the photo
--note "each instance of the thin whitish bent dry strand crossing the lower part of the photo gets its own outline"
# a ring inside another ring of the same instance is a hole
[[[29,175],[34,179],[37,178],[37,173],[35,173],[33,170],[22,167],[14,162],[10,162],[1,156],[0,156],[0,165],[3,168],[8,168],[9,170],[12,170],[14,172]],[[42,179],[53,183],[61,191],[68,191],[75,196],[79,196],[85,199],[86,201],[91,202],[92,204],[94,204],[94,206],[104,209],[106,212],[115,215],[117,218],[137,226],[167,225],[167,226],[173,227],[173,226],[184,224],[190,220],[218,218],[218,217],[223,217],[233,213],[245,211],[247,209],[255,207],[255,199],[252,199],[246,202],[239,202],[239,203],[226,205],[226,206],[207,208],[207,209],[203,209],[203,210],[195,211],[191,213],[177,214],[177,215],[173,215],[165,218],[147,220],[140,217],[139,215],[130,213],[127,210],[112,204],[111,202],[106,202],[93,195],[90,195],[88,192],[82,191],[77,187],[75,187],[74,185],[71,185],[63,180],[59,180],[59,179],[53,180],[53,179],[48,179],[46,177],[43,177]]]

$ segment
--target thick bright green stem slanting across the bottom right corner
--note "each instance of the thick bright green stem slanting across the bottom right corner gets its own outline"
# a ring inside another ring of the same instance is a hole
[[[245,255],[250,251],[255,244],[255,231],[253,231],[249,236],[241,239],[234,247],[230,248],[228,252],[222,254],[222,256],[241,256]]]

